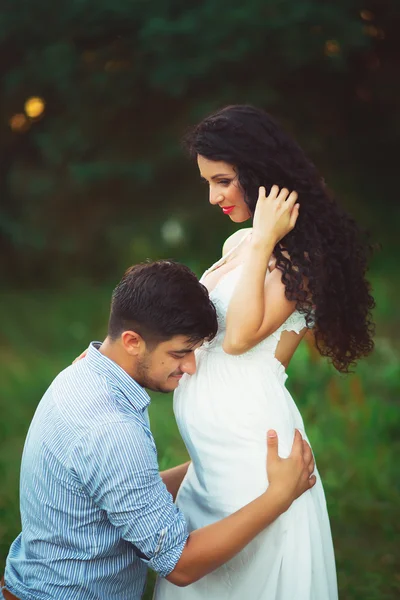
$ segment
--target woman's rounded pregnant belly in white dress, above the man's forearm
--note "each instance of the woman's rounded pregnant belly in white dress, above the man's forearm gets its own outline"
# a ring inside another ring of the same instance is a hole
[[[281,456],[290,453],[295,427],[303,429],[278,375],[267,361],[261,368],[254,361],[227,365],[214,355],[182,379],[174,410],[193,464],[180,501],[196,498],[204,512],[212,505],[220,518],[265,491],[268,429],[278,432]]]

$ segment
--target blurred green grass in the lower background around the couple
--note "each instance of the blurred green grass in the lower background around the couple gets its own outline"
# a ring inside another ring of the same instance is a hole
[[[307,345],[289,369],[324,481],[341,600],[400,597],[398,288],[390,277],[375,278],[376,350],[355,374],[337,375]],[[53,377],[89,340],[104,338],[110,291],[81,286],[0,301],[1,565],[20,528],[19,465],[30,419]],[[171,396],[154,394],[150,416],[161,468],[186,460]]]

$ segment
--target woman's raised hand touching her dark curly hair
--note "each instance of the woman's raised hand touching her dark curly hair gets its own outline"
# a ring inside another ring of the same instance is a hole
[[[253,220],[252,243],[275,246],[296,225],[300,204],[297,192],[273,185],[268,196],[260,187]]]

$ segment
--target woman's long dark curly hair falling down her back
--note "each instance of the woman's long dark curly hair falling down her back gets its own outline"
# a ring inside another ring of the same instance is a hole
[[[373,348],[374,300],[365,279],[369,246],[356,223],[329,194],[301,148],[263,110],[228,106],[186,135],[190,155],[232,165],[254,214],[261,185],[295,190],[300,214],[275,247],[288,300],[313,327],[316,346],[338,371]],[[287,257],[290,258],[287,258]]]

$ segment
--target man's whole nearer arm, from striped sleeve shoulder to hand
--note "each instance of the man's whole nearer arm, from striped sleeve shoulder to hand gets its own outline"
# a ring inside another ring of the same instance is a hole
[[[287,459],[268,440],[269,487],[235,514],[190,535],[159,473],[154,440],[139,418],[87,431],[71,454],[83,490],[151,569],[185,586],[230,560],[315,483],[310,447],[295,434]]]

